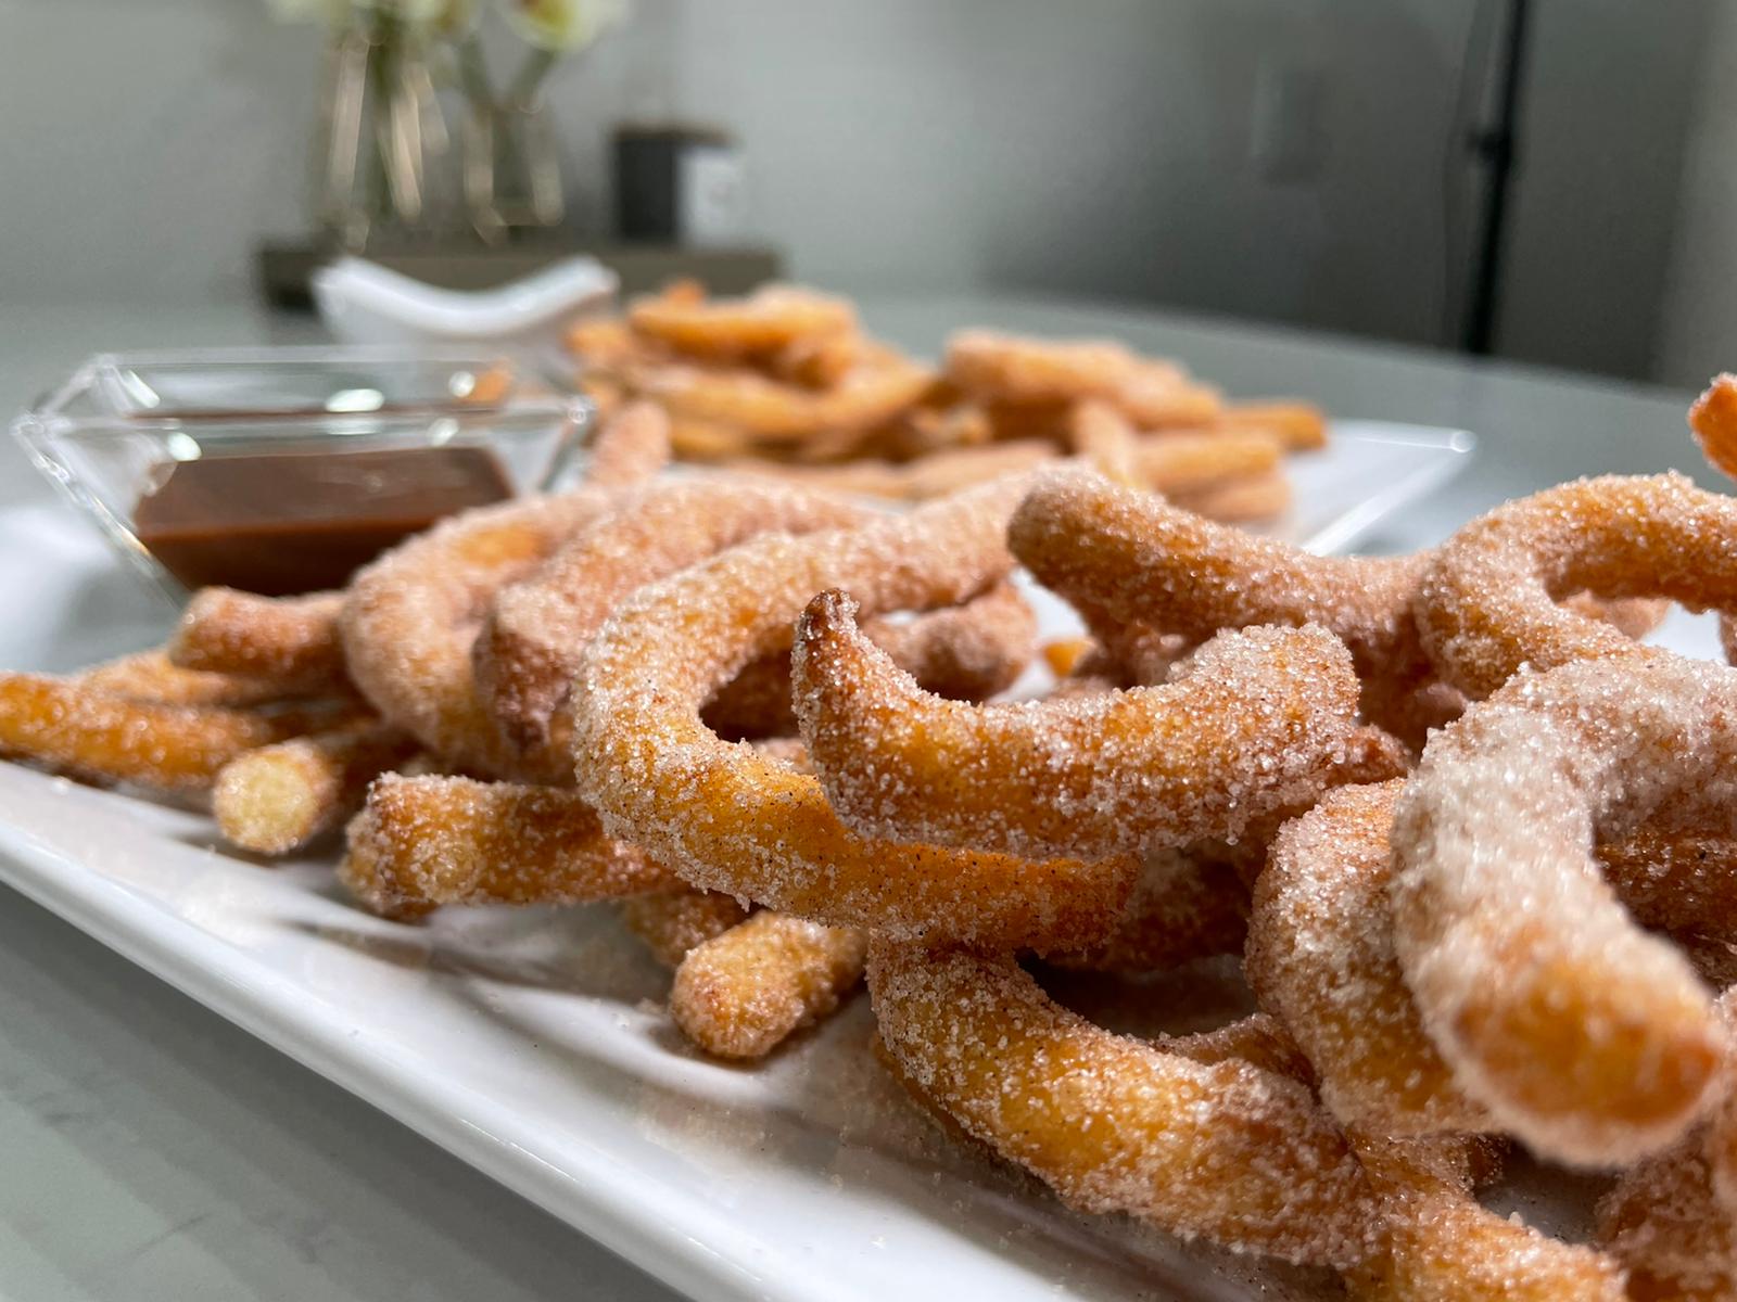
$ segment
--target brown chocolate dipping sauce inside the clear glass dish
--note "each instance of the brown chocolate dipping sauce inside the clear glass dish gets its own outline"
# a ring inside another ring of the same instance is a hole
[[[488,448],[210,457],[179,462],[132,524],[189,589],[280,597],[344,587],[401,538],[509,496]]]

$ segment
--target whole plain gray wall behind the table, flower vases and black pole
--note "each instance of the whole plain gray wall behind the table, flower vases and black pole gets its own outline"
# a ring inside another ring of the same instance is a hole
[[[1678,64],[1709,5],[1539,0],[1513,354],[1645,370],[1669,141],[1695,101]],[[740,134],[759,226],[797,276],[1436,342],[1470,231],[1447,153],[1475,9],[639,0],[552,97],[589,229],[604,224],[608,123],[676,111]],[[304,224],[316,54],[316,33],[273,24],[264,0],[0,0],[0,295],[247,293],[255,238]],[[1261,106],[1287,83],[1313,87],[1318,132],[1275,174]]]

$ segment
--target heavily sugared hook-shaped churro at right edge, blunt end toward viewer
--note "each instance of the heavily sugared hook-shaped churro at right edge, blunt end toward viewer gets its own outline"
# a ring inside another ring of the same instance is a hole
[[[1640,1158],[1718,1088],[1706,988],[1628,918],[1593,844],[1659,812],[1728,835],[1734,759],[1737,670],[1624,656],[1516,679],[1431,738],[1405,785],[1405,979],[1456,1083],[1534,1149]]]

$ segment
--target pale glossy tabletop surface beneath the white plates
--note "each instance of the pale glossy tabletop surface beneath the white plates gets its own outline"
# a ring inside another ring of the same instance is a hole
[[[1683,427],[1687,392],[1136,309],[938,299],[865,314],[922,352],[962,323],[1110,333],[1235,394],[1475,431],[1473,467],[1383,550],[1577,474],[1674,465],[1716,483]],[[28,403],[99,349],[314,337],[306,318],[245,307],[0,306],[0,399]],[[0,505],[43,495],[0,446]],[[0,1153],[3,1299],[674,1297],[3,887]]]

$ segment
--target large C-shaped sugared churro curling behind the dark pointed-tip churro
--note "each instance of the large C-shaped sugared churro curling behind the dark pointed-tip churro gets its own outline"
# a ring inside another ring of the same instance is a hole
[[[957,602],[999,582],[1018,483],[851,533],[764,536],[643,589],[603,627],[573,687],[580,790],[604,826],[697,885],[829,925],[1087,944],[1138,866],[888,845],[848,832],[815,778],[721,741],[700,705],[787,644],[820,589],[877,611]]]

